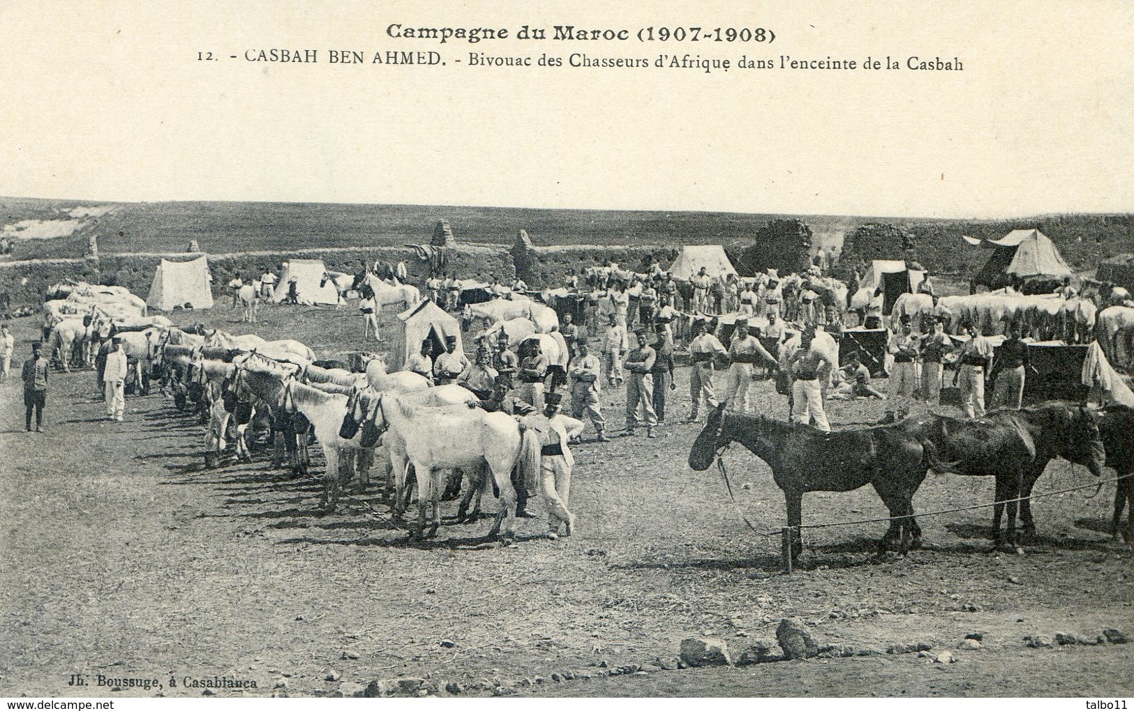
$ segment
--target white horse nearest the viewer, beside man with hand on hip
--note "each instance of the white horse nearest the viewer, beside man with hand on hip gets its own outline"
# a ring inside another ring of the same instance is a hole
[[[500,509],[489,536],[499,534],[503,524],[505,538],[514,538],[516,490],[511,473],[518,468],[521,481],[535,481],[540,469],[535,432],[522,429],[502,412],[485,412],[468,404],[418,408],[390,394],[379,402],[375,421],[380,430],[388,429],[405,440],[406,457],[417,480],[416,536],[424,536],[426,504],[433,513],[430,536],[441,525],[442,471],[488,469],[500,491]]]

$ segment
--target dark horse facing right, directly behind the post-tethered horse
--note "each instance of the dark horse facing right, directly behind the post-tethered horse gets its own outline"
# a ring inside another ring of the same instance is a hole
[[[1105,464],[1095,414],[1085,406],[1067,402],[999,410],[975,420],[926,413],[907,418],[900,427],[932,442],[956,473],[996,478],[993,502],[1007,504],[993,506],[992,541],[997,547],[1004,542],[1016,552],[1023,549],[1016,541],[1016,513],[1021,506],[1015,499],[1031,492],[1031,485],[1043,473],[1048,462],[1061,456],[1085,464],[1097,477]],[[1007,538],[1002,539],[1000,520],[1006,505]],[[1024,520],[1029,519],[1030,512]]]

